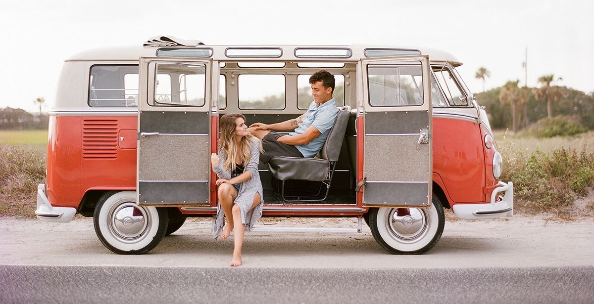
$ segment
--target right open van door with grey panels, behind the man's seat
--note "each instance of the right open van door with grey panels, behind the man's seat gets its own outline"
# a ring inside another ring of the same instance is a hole
[[[429,58],[419,55],[363,59],[360,67],[359,93],[363,98],[358,119],[364,119],[364,153],[359,180],[366,180],[363,205],[429,208]]]

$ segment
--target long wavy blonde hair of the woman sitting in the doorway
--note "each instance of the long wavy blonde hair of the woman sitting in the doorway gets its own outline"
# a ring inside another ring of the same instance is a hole
[[[247,166],[249,159],[251,158],[249,143],[258,140],[257,137],[248,133],[239,141],[239,151],[237,151],[237,145],[235,143],[235,121],[238,118],[244,119],[245,122],[245,116],[239,113],[225,114],[220,118],[219,128],[221,138],[219,139],[219,146],[227,154],[225,163],[223,163],[223,169],[225,170],[229,169],[229,167],[231,168],[231,171],[235,170],[235,160],[238,158],[238,153],[241,153],[242,164],[244,164],[244,167]]]

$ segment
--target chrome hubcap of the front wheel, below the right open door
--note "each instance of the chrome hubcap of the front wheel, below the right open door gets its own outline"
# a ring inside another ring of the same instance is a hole
[[[411,242],[423,236],[428,227],[425,209],[394,208],[386,220],[394,237]]]

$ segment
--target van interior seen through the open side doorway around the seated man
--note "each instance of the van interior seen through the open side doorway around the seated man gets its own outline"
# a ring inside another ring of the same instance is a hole
[[[356,91],[350,81],[355,80],[355,66],[355,62],[336,61],[221,63],[219,115],[242,113],[247,125],[275,124],[305,113],[313,100],[309,77],[320,69],[331,72],[336,79],[336,106],[349,106],[343,108],[348,111],[346,130],[342,143],[334,147],[340,151],[331,181],[286,180],[283,187],[283,181],[274,177],[268,164],[260,162],[258,170],[267,204],[356,204]]]

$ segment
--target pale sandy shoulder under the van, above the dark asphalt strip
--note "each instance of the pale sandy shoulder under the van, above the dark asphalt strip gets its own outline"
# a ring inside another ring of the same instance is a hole
[[[260,226],[355,227],[353,219],[263,219]],[[423,255],[391,255],[363,233],[247,233],[244,266],[255,268],[473,268],[594,265],[594,219],[537,217],[446,221]],[[214,240],[210,220],[189,219],[145,255],[117,255],[97,239],[91,219],[70,223],[0,218],[2,265],[226,267],[232,238]]]

